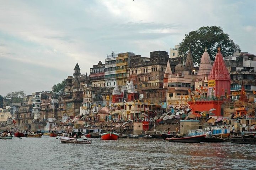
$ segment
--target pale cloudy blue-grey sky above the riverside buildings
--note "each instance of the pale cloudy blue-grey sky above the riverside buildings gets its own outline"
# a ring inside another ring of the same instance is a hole
[[[169,54],[204,26],[256,55],[255,0],[0,0],[0,95],[50,91],[112,51]]]

